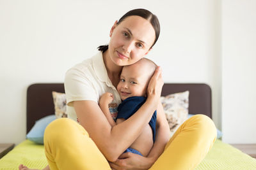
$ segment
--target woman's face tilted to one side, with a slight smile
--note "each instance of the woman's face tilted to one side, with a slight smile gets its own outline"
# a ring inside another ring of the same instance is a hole
[[[109,56],[118,66],[134,64],[147,55],[156,39],[156,33],[148,20],[129,16],[110,32]]]

